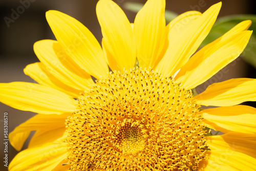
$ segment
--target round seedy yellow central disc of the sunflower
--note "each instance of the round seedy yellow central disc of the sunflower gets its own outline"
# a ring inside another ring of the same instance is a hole
[[[71,170],[198,170],[208,146],[191,90],[156,71],[110,72],[67,119]]]

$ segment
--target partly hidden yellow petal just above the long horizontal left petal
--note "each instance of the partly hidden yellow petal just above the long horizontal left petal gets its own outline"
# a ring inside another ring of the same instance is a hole
[[[46,71],[46,72],[45,72]],[[59,90],[73,98],[77,98],[82,92],[81,90],[74,89],[67,86],[58,78],[54,77],[44,65],[40,62],[31,63],[24,69],[24,73],[34,79],[36,82],[43,86],[51,87]]]

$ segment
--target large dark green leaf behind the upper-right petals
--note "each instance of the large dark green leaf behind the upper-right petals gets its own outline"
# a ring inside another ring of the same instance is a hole
[[[217,19],[215,25],[212,27],[210,33],[204,39],[200,47],[204,47],[210,42],[216,40],[224,33],[229,31],[232,27],[236,26],[244,20],[251,20],[252,24],[248,30],[255,30],[246,46],[241,57],[247,61],[250,65],[256,68],[256,15],[229,15]]]

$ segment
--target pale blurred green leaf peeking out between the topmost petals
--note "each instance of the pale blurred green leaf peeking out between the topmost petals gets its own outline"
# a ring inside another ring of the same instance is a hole
[[[124,3],[123,8],[126,10],[130,10],[132,12],[137,13],[144,5],[140,3],[132,3],[132,2],[127,2]],[[177,17],[178,14],[172,11],[165,11],[165,19],[166,23],[169,23],[171,20],[173,20],[175,17]]]

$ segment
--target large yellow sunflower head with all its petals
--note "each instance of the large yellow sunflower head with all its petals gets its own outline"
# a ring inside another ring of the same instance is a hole
[[[1,102],[38,113],[10,133],[19,151],[36,131],[9,170],[254,170],[256,109],[239,104],[256,101],[256,80],[194,90],[236,59],[252,33],[246,20],[197,51],[220,8],[166,26],[165,1],[148,0],[131,24],[100,0],[102,46],[74,18],[48,11],[57,40],[36,42],[40,62],[24,69],[38,84],[0,84]]]

